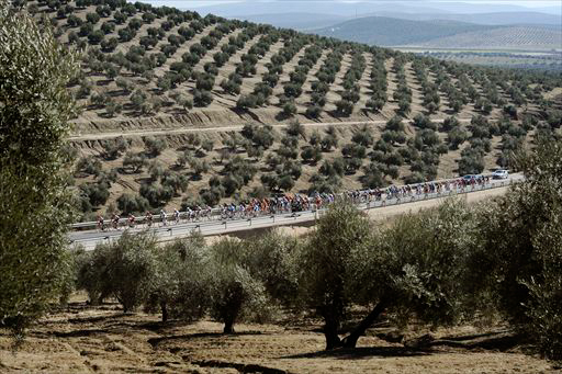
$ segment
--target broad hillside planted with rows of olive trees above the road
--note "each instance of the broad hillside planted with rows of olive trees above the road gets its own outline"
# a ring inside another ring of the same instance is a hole
[[[83,56],[69,90],[85,219],[482,172],[560,127],[560,75],[138,2],[26,7]]]

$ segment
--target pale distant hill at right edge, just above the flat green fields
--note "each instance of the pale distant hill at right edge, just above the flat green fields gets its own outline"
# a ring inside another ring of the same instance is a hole
[[[425,48],[562,50],[560,29],[508,26],[481,30],[411,43],[408,46]]]

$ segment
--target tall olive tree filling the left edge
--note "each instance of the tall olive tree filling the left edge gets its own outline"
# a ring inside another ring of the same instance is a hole
[[[63,145],[76,60],[48,26],[0,0],[0,326],[18,336],[59,293],[68,267]]]

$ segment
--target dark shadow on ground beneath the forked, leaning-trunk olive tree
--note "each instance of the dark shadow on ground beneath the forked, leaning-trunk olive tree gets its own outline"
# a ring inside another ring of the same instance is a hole
[[[331,351],[318,351],[284,355],[278,359],[337,359],[337,360],[362,360],[370,358],[412,358],[431,355],[436,352],[413,350],[405,347],[360,347],[341,348]]]

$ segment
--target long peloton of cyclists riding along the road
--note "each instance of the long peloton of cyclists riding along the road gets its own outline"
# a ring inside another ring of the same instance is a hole
[[[160,209],[158,214],[158,222],[160,226],[168,226],[170,224],[180,224],[183,222],[200,222],[215,219],[241,219],[254,218],[263,215],[283,214],[303,211],[317,211],[334,203],[336,199],[345,199],[352,204],[370,204],[372,202],[382,202],[382,205],[390,200],[414,200],[419,195],[428,195],[434,193],[450,193],[463,192],[465,189],[474,189],[490,183],[488,177],[473,177],[470,179],[459,178],[454,180],[446,180],[439,182],[427,182],[419,184],[411,184],[396,186],[391,185],[385,189],[369,189],[369,190],[352,190],[346,191],[340,194],[335,193],[313,193],[307,196],[304,194],[280,194],[272,197],[250,199],[239,203],[229,203],[211,208],[209,205],[196,205],[187,207],[183,212],[173,209],[171,217],[169,214]],[[150,228],[155,222],[151,212],[146,212],[144,217],[137,219],[133,214],[122,219],[117,214],[113,214],[109,220],[110,228],[119,229],[120,224],[125,223],[127,227],[135,227],[137,224],[144,224]],[[102,215],[98,216],[98,229],[105,230],[108,228],[108,220]]]

